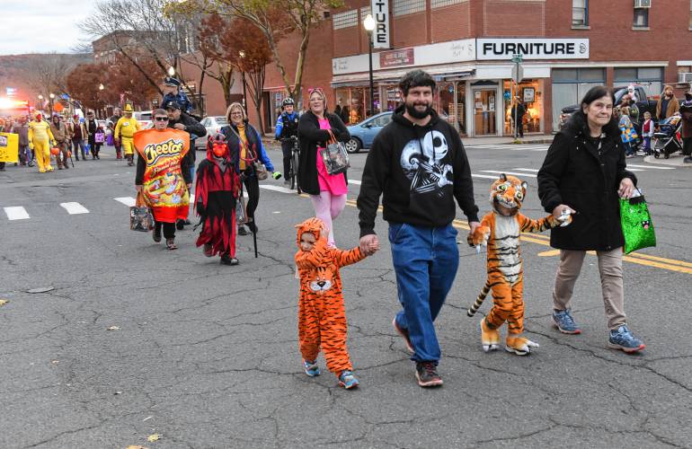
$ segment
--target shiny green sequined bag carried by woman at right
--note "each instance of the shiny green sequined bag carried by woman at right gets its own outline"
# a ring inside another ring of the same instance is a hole
[[[642,192],[638,197],[620,198],[620,224],[625,235],[625,254],[656,246],[652,215]]]

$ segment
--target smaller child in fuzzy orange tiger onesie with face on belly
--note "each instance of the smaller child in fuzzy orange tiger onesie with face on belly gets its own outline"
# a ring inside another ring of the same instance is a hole
[[[298,343],[306,374],[320,374],[317,354],[324,351],[327,368],[349,390],[359,382],[346,348],[346,312],[343,309],[339,269],[366,258],[359,247],[343,251],[327,244],[329,230],[319,218],[297,225]]]

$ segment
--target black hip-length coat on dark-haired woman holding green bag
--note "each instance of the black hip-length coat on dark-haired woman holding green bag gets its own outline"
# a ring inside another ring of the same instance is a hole
[[[554,137],[538,172],[538,197],[546,212],[560,204],[577,211],[571,225],[551,230],[553,248],[611,251],[625,244],[617,189],[624,178],[636,184],[634,174],[625,168],[617,127],[602,139],[593,139],[583,113],[573,114]]]

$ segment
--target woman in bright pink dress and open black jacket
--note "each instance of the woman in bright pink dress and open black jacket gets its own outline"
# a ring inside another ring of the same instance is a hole
[[[324,148],[331,135],[340,142],[350,140],[349,130],[342,119],[327,112],[327,101],[322,89],[310,91],[309,110],[298,121],[300,159],[298,161],[298,184],[310,195],[315,207],[315,216],[329,227],[330,245],[334,244],[332,220],[346,206],[348,192],[346,172],[331,175],[326,171],[318,148]]]

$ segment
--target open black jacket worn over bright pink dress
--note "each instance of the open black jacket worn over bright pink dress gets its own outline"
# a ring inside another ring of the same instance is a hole
[[[324,116],[329,120],[334,137],[340,142],[348,142],[350,133],[342,119],[329,112]],[[300,120],[298,120],[298,141],[300,142],[298,185],[300,185],[300,189],[310,195],[320,194],[320,183],[317,180],[317,144],[324,147],[329,139],[329,132],[326,129],[320,129],[315,114],[308,110],[300,116]],[[343,172],[343,178],[346,183],[349,182],[346,172]]]

